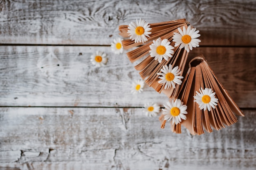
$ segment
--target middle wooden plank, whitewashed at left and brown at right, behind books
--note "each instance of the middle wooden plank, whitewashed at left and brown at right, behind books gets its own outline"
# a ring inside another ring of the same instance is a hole
[[[108,55],[105,67],[90,62],[97,50]],[[168,100],[148,86],[130,93],[131,83],[140,79],[135,64],[110,51],[105,46],[0,46],[0,106],[142,107]],[[202,47],[190,58],[201,53],[238,106],[254,108],[256,48]]]

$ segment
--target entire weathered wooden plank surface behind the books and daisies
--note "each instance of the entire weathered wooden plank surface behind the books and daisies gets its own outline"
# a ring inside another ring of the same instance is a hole
[[[255,16],[255,0],[0,0],[0,170],[255,170]],[[167,97],[132,95],[135,64],[110,50],[136,18],[200,30],[189,58],[206,57],[245,117],[201,136],[146,117]]]

